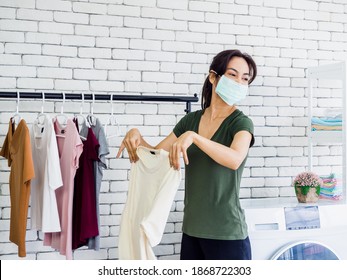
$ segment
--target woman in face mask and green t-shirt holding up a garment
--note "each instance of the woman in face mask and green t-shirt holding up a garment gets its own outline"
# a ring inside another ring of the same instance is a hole
[[[251,259],[251,246],[239,189],[253,123],[236,103],[245,98],[257,74],[253,59],[239,50],[217,54],[202,89],[202,110],[184,116],[173,132],[150,146],[137,129],[125,136],[117,157],[127,149],[136,162],[139,145],[169,152],[170,164],[185,166],[181,259]]]

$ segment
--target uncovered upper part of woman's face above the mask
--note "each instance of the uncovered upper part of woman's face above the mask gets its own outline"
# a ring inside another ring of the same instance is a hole
[[[238,56],[234,56],[229,61],[224,75],[225,77],[243,85],[248,85],[251,78],[246,60]]]

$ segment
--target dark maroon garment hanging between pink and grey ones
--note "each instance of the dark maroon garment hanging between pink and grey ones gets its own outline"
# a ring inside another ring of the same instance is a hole
[[[78,130],[77,119],[74,119]],[[88,244],[88,239],[99,235],[96,215],[96,193],[94,162],[98,161],[99,142],[94,132],[85,123],[80,135],[83,141],[83,152],[79,159],[79,168],[75,176],[72,219],[72,249]]]

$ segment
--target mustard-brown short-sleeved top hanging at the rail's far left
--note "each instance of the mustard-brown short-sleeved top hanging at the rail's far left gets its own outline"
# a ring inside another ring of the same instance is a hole
[[[26,226],[31,180],[35,176],[31,154],[30,134],[25,120],[15,128],[12,118],[8,133],[0,151],[8,160],[10,172],[10,241],[17,244],[18,256],[26,256]]]

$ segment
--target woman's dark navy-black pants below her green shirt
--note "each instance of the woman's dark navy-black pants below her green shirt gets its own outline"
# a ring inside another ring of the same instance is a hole
[[[251,260],[251,243],[244,240],[217,240],[182,236],[181,260]]]

